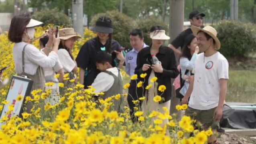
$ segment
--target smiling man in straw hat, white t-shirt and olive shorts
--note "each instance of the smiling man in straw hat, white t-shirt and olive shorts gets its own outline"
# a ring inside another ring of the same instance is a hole
[[[216,131],[227,92],[228,60],[217,51],[220,49],[220,42],[213,27],[205,26],[201,29],[192,26],[191,30],[197,37],[197,45],[202,53],[195,60],[194,80],[182,103],[186,104],[190,96],[185,114],[193,117],[196,113],[194,118],[204,128],[211,127]],[[217,144],[217,138],[212,135],[208,144]]]

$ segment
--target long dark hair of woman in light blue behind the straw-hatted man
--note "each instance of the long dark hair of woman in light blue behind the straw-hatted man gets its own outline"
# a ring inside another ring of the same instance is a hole
[[[186,36],[185,38],[185,42],[182,48],[182,54],[181,57],[185,57],[188,58],[189,60],[191,60],[191,53],[190,53],[190,49],[189,49],[189,45],[191,44],[192,40],[195,38],[194,34],[189,34],[188,36]]]

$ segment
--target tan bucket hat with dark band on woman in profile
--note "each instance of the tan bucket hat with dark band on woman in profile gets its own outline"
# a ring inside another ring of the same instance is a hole
[[[59,30],[59,38],[61,40],[67,40],[69,38],[75,37],[76,39],[82,38],[81,36],[78,36],[75,33],[75,30],[73,28],[62,28]]]

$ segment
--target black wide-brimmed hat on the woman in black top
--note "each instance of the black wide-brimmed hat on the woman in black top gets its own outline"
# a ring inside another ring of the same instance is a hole
[[[107,16],[101,16],[95,26],[91,28],[92,31],[102,32],[102,33],[113,33],[112,20]]]

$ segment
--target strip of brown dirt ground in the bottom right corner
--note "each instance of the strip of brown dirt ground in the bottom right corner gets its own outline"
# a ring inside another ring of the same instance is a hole
[[[248,136],[222,133],[217,142],[218,144],[256,144],[256,139]]]

